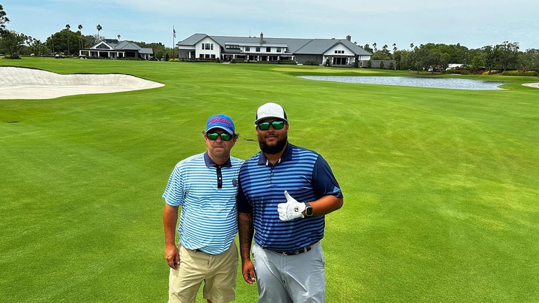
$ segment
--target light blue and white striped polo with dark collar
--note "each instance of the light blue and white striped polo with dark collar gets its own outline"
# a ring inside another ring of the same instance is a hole
[[[236,194],[243,162],[230,157],[219,166],[204,152],[174,167],[163,198],[169,205],[182,207],[178,226],[182,246],[212,255],[229,248],[238,232]]]

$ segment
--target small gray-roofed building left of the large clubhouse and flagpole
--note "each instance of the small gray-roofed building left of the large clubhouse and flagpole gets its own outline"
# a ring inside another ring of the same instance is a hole
[[[142,48],[129,41],[118,41],[117,39],[104,39],[91,48],[79,50],[79,56],[89,58],[140,58],[149,59],[153,57],[152,48]]]

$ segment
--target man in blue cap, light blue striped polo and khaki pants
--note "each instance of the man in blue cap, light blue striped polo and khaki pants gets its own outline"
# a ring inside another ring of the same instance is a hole
[[[208,302],[236,297],[238,231],[236,194],[243,160],[230,156],[238,134],[229,116],[208,118],[207,151],[181,160],[164,191],[165,257],[170,266],[169,302],[194,303],[200,284]],[[181,206],[176,246],[178,207]]]

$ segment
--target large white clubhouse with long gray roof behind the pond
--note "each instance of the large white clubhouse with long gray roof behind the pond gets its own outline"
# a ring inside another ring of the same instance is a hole
[[[180,59],[279,62],[352,66],[367,61],[372,53],[346,39],[294,39],[260,37],[229,37],[194,34],[178,46]],[[360,64],[361,65],[361,64]]]

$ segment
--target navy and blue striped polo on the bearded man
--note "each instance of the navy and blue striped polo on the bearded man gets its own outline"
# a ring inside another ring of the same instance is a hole
[[[281,221],[277,211],[285,190],[299,202],[322,196],[342,198],[339,183],[325,159],[310,149],[287,143],[281,159],[272,165],[263,152],[240,168],[238,210],[253,215],[254,241],[274,251],[296,251],[315,244],[324,235],[324,216]]]

